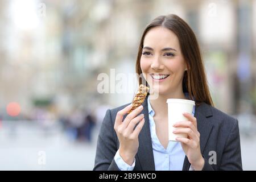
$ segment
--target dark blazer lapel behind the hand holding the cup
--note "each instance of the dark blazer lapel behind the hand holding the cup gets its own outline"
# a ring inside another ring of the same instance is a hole
[[[201,154],[203,154],[205,145],[207,144],[207,140],[213,127],[212,123],[209,122],[210,119],[208,119],[209,117],[212,117],[212,110],[210,106],[205,104],[204,102],[201,105],[196,106],[195,117],[197,120],[197,130],[200,133]],[[187,156],[185,156],[183,171],[188,171],[189,167],[190,163]]]

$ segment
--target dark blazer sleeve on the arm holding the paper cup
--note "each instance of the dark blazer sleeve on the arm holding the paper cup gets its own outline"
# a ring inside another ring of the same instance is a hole
[[[210,166],[207,160],[205,160],[203,170],[213,170],[213,168]],[[220,170],[242,171],[240,133],[237,119],[234,122],[233,128],[229,134],[228,139],[226,140],[224,152],[222,154]]]

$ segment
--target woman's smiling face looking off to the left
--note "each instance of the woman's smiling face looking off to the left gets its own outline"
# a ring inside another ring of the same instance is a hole
[[[174,32],[164,27],[152,28],[144,37],[143,44],[141,69],[150,88],[154,92],[157,89],[159,95],[182,91],[187,66]]]

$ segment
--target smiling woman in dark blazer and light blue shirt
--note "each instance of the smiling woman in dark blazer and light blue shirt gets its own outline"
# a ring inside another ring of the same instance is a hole
[[[151,93],[130,114],[131,105],[106,112],[94,170],[242,170],[238,121],[213,107],[196,36],[183,19],[152,20],[136,71]],[[184,114],[189,121],[174,126],[174,133],[188,134],[177,142],[168,141],[168,98],[196,102]]]

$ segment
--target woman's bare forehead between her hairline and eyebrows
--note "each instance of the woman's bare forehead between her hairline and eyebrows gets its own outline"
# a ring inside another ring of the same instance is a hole
[[[171,47],[175,49],[179,49],[179,39],[177,36],[164,27],[154,27],[149,30],[144,37],[144,47],[152,47],[154,49],[163,48],[163,47]]]

